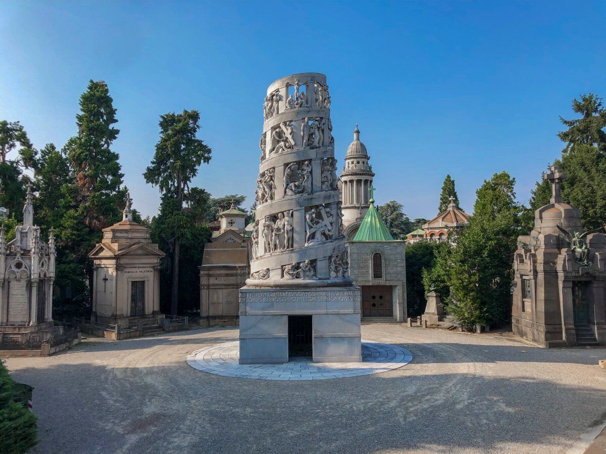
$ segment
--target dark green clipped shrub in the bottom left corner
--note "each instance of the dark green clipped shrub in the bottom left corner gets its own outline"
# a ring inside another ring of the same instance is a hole
[[[15,402],[15,381],[0,361],[0,452],[21,454],[38,443],[38,418]]]

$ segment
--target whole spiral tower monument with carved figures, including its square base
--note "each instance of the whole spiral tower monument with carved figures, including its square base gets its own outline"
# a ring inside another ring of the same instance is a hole
[[[282,77],[267,89],[251,273],[240,290],[242,364],[361,360],[330,102],[324,74]]]

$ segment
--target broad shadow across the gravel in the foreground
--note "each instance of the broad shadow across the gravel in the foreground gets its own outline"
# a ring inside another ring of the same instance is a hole
[[[564,451],[606,408],[604,389],[581,383],[419,368],[415,375],[407,367],[276,382],[218,377],[183,363],[83,363],[13,377],[36,388],[41,444],[31,452],[40,453]]]

